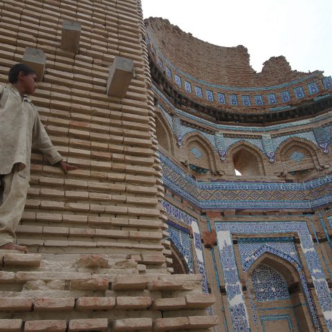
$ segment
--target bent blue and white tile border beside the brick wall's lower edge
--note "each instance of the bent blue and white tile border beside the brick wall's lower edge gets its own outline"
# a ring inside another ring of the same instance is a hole
[[[192,232],[194,234],[194,247],[195,253],[197,257],[197,268],[199,269],[199,273],[202,275],[202,287],[204,293],[209,293],[208,289],[208,277],[206,276],[205,270],[205,263],[203,257],[203,248],[202,248],[202,241],[201,241],[201,232],[199,230],[199,224],[194,217],[190,216],[189,214],[183,212],[182,210],[176,208],[174,205],[167,201],[161,201],[161,205],[166,210],[168,216],[176,219],[176,222],[183,223],[184,225],[189,225],[192,227]],[[187,238],[186,238],[187,239]],[[180,241],[178,239],[178,241]],[[187,240],[186,240],[187,241]],[[189,246],[187,244],[187,246]]]

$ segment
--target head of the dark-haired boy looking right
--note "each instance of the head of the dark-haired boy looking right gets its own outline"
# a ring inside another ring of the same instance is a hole
[[[37,73],[26,64],[15,64],[8,73],[8,82],[14,84],[20,93],[32,95],[37,89]]]

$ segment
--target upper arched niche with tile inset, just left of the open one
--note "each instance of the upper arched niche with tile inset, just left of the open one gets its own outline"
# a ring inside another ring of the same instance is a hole
[[[213,172],[216,169],[216,154],[209,142],[201,133],[194,131],[185,136],[185,149],[187,150],[187,163]],[[195,176],[199,175],[192,171]]]

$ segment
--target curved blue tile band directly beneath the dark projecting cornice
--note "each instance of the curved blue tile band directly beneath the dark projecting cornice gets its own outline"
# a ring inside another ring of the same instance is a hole
[[[165,102],[165,104],[167,104],[170,108],[172,108],[174,110],[174,112],[178,116],[183,116],[183,118],[187,118],[189,120],[194,120],[201,124],[206,124],[209,127],[212,127],[218,131],[239,131],[239,132],[253,131],[253,132],[261,132],[261,133],[267,132],[268,133],[269,131],[274,131],[274,130],[279,130],[279,129],[286,129],[286,128],[291,129],[291,128],[296,128],[296,127],[302,127],[306,124],[313,125],[322,120],[329,120],[331,118],[331,116],[329,114],[322,114],[320,116],[315,116],[314,118],[311,118],[311,119],[291,121],[291,122],[286,122],[286,123],[282,123],[282,124],[273,124],[273,125],[266,126],[266,127],[248,127],[248,126],[242,127],[242,126],[234,126],[234,125],[231,126],[228,124],[215,124],[214,122],[210,122],[208,120],[199,118],[199,117],[189,114],[187,112],[181,111],[180,109],[176,109],[174,107],[174,105],[171,102],[169,102],[169,100],[167,100],[167,98],[165,98],[165,95],[163,95],[163,93],[161,93],[156,88],[156,86],[152,85],[152,89],[154,90],[155,93],[158,94],[160,99],[163,100],[163,102]]]

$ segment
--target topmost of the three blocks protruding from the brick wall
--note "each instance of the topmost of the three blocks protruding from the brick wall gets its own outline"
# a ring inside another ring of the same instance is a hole
[[[80,49],[81,24],[75,21],[62,23],[61,48],[78,53]]]

